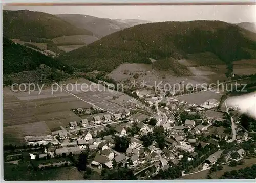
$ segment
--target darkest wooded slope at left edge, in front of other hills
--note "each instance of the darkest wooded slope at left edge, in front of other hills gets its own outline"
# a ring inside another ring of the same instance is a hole
[[[36,72],[39,67],[41,67],[40,71],[48,69],[47,71],[45,70],[45,75]],[[15,76],[17,78],[21,77],[17,73],[24,73],[27,77],[27,79],[24,79],[24,82],[32,82],[36,80],[37,76],[42,78],[48,77],[49,80],[54,80],[57,77],[61,77],[61,75],[58,75],[59,73],[72,74],[73,72],[73,67],[63,64],[61,61],[52,57],[45,56],[38,51],[13,43],[7,37],[3,36],[4,84],[10,84]]]

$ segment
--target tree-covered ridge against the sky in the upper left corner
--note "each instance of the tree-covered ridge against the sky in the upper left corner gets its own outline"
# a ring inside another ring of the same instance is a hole
[[[93,35],[55,15],[28,10],[4,10],[3,32],[10,38],[27,36],[52,39],[69,35]]]

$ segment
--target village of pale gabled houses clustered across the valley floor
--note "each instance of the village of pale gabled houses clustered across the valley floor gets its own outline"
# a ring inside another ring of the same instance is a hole
[[[237,107],[211,98],[197,105],[150,87],[132,95],[125,94],[129,100],[124,102],[125,96],[114,91],[111,101],[121,106],[115,112],[101,102],[71,108],[78,118],[51,135],[26,135],[22,147],[5,145],[5,162],[30,161],[37,171],[76,165],[100,173],[122,167],[138,179],[162,179],[177,167],[183,169],[173,176],[186,177],[236,166],[255,154]]]

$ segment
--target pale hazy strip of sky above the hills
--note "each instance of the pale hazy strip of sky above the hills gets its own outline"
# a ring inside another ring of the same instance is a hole
[[[256,5],[193,6],[4,6],[4,10],[31,10],[50,14],[84,14],[110,19],[141,19],[152,22],[220,20],[256,22]]]

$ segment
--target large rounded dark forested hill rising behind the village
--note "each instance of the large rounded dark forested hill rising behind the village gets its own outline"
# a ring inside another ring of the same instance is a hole
[[[210,52],[232,69],[232,61],[253,58],[255,38],[252,32],[222,21],[147,23],[105,36],[61,60],[84,71],[111,72],[124,62],[150,63],[148,58],[179,59]]]

